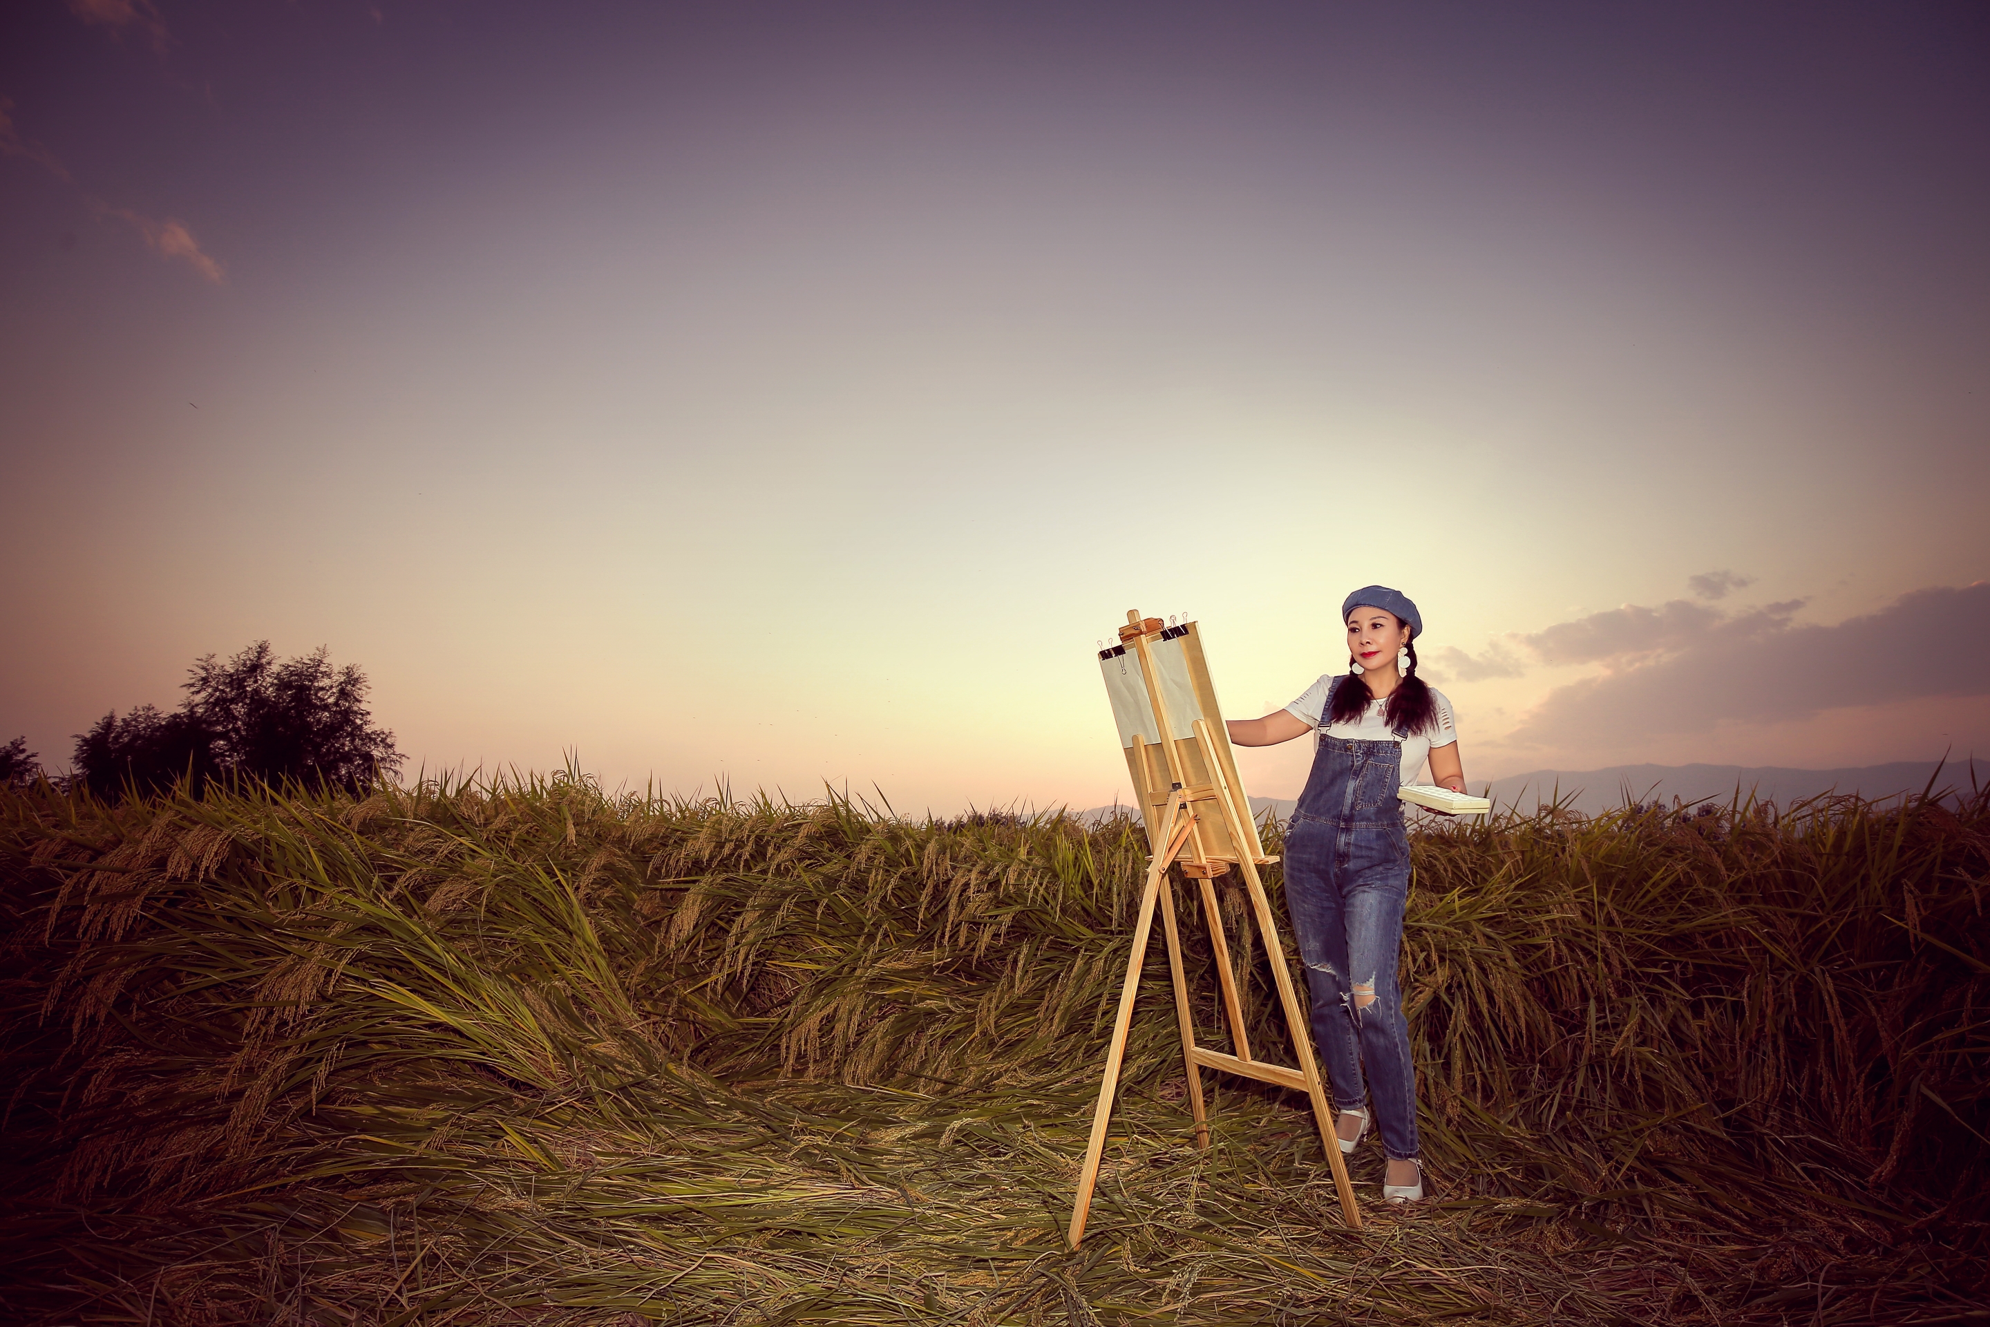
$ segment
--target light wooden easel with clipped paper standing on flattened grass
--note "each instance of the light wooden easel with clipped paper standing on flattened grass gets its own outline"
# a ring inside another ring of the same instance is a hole
[[[1305,1092],[1313,1104],[1313,1124],[1319,1128],[1319,1146],[1327,1152],[1327,1166],[1333,1170],[1333,1188],[1341,1198],[1341,1220],[1351,1230],[1361,1230],[1361,1208],[1355,1206],[1353,1184],[1347,1180],[1347,1164],[1333,1130],[1333,1110],[1327,1104],[1325,1088],[1319,1082],[1319,1064],[1313,1060],[1311,1025],[1305,1005],[1292,987],[1292,973],[1286,967],[1286,949],[1278,937],[1278,923],[1272,919],[1272,905],[1264,893],[1258,867],[1276,857],[1266,857],[1258,844],[1258,826],[1252,820],[1250,800],[1230,758],[1228,734],[1218,740],[1214,722],[1222,722],[1216,712],[1216,692],[1208,682],[1202,664],[1202,647],[1196,641],[1184,643],[1190,670],[1192,696],[1202,710],[1192,720],[1190,738],[1176,736],[1180,728],[1170,722],[1164,692],[1168,684],[1156,666],[1154,651],[1164,641],[1174,641],[1194,627],[1164,629],[1160,619],[1142,619],[1138,611],[1126,613],[1126,627],[1120,627],[1120,649],[1138,657],[1146,698],[1152,706],[1154,732],[1158,742],[1142,742],[1138,736],[1126,748],[1128,766],[1134,772],[1134,786],[1142,790],[1142,810],[1146,812],[1148,846],[1152,859],[1146,867],[1146,885],[1140,889],[1140,913],[1132,929],[1132,953],[1126,957],[1126,981],[1120,985],[1118,1017],[1112,1021],[1112,1043],[1106,1048],[1104,1082],[1098,1084],[1098,1106],[1093,1110],[1093,1138],[1085,1150],[1085,1168],[1079,1172],[1079,1198],[1071,1212],[1071,1247],[1079,1247],[1085,1237],[1085,1218],[1091,1214],[1093,1190],[1098,1184],[1098,1162],[1106,1150],[1106,1128],[1112,1122],[1112,1096],[1118,1088],[1120,1062],[1126,1058],[1126,1033],[1132,1027],[1132,1003],[1140,989],[1140,967],[1146,961],[1146,945],[1154,931],[1154,905],[1160,903],[1162,931],[1168,937],[1168,973],[1174,979],[1174,1019],[1182,1031],[1182,1062],[1188,1068],[1188,1104],[1196,1118],[1196,1146],[1210,1146],[1208,1112],[1202,1100],[1202,1070],[1220,1068],[1230,1074],[1258,1078],[1282,1088]],[[1108,651],[1110,653],[1110,651]],[[1180,672],[1180,668],[1178,668]],[[1180,694],[1180,682],[1176,682]],[[1160,748],[1156,762],[1154,746]],[[1202,776],[1202,778],[1196,778]],[[1162,796],[1164,794],[1164,796]],[[1158,816],[1156,810],[1158,800]],[[1244,1031],[1244,1007],[1236,991],[1236,975],[1230,969],[1230,945],[1224,935],[1222,913],[1216,905],[1216,877],[1226,875],[1230,865],[1242,867],[1244,887],[1250,893],[1252,915],[1258,919],[1258,935],[1264,939],[1266,957],[1272,963],[1272,981],[1278,983],[1278,999],[1286,1011],[1286,1031],[1299,1052],[1299,1066],[1270,1064],[1252,1058],[1250,1037]],[[1182,875],[1196,881],[1202,891],[1202,915],[1210,927],[1210,943],[1216,949],[1216,977],[1222,985],[1224,1019],[1230,1025],[1230,1039],[1236,1054],[1224,1054],[1196,1044],[1196,1023],[1190,1011],[1188,981],[1182,975],[1182,937],[1174,921],[1174,885],[1168,867],[1180,865]]]

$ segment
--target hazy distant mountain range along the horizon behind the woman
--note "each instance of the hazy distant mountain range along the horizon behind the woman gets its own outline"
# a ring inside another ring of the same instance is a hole
[[[1940,776],[1936,776],[1940,770]],[[1498,808],[1516,806],[1532,812],[1542,802],[1562,798],[1586,816],[1608,812],[1626,802],[1731,802],[1735,790],[1741,796],[1753,792],[1757,802],[1789,806],[1805,798],[1825,794],[1857,794],[1867,800],[1894,798],[1902,792],[1920,792],[1934,780],[1936,792],[1942,788],[1968,792],[1970,774],[1976,784],[1990,784],[1990,762],[1950,760],[1904,760],[1898,764],[1869,764],[1853,770],[1787,770],[1781,766],[1739,766],[1739,764],[1614,764],[1608,770],[1532,770],[1510,778],[1492,780],[1492,804]],[[1485,784],[1473,782],[1471,790],[1485,794]],[[1250,808],[1262,820],[1270,810],[1280,820],[1292,816],[1297,806],[1294,798],[1252,798]],[[1118,808],[1132,814],[1132,808]],[[1114,814],[1110,806],[1094,806],[1079,816],[1096,824]]]

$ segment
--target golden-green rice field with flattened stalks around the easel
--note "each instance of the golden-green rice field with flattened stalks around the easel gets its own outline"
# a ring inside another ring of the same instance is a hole
[[[1069,1251],[1128,822],[0,792],[0,1315],[1990,1321],[1990,792],[1413,853],[1431,1202],[1383,1206],[1369,1140],[1343,1230],[1303,1098],[1220,1074],[1196,1150],[1156,943]],[[1278,1054],[1290,959],[1232,959]]]

